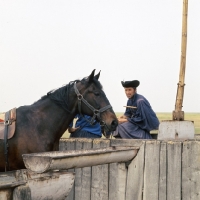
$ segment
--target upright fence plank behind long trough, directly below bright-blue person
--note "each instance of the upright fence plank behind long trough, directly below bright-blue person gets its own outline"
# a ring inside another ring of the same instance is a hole
[[[92,139],[82,138],[76,140],[76,149],[91,149]],[[91,194],[91,167],[75,169],[75,200],[90,200]]]

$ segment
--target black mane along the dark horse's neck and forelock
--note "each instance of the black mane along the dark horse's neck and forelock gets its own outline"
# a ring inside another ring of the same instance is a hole
[[[61,106],[64,110],[66,110],[68,113],[70,113],[69,103],[68,103],[69,102],[69,93],[72,90],[74,90],[74,87],[73,87],[74,83],[81,82],[83,84],[87,84],[86,87],[88,87],[89,83],[86,81],[86,78],[84,78],[82,80],[70,81],[68,84],[62,86],[61,88],[53,89],[53,90],[49,91],[47,93],[47,95],[42,96],[39,101],[44,100],[46,98],[49,98],[54,103],[56,103],[57,105]],[[103,89],[101,83],[97,79],[93,79],[93,83],[99,89]]]

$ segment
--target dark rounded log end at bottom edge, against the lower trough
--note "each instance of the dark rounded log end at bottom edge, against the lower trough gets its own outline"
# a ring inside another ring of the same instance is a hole
[[[14,189],[13,200],[32,200],[31,190],[28,185],[21,185]]]

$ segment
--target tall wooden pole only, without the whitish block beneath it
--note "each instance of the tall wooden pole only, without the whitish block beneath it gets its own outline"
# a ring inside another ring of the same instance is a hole
[[[182,107],[183,107],[183,94],[185,86],[184,83],[185,68],[186,68],[187,15],[188,15],[188,0],[183,0],[180,74],[179,74],[179,82],[176,94],[175,110],[173,111],[173,120],[178,120],[178,121],[184,120],[184,111],[182,111]]]

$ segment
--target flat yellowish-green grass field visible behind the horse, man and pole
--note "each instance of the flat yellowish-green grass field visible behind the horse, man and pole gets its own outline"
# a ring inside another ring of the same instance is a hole
[[[123,113],[121,112],[116,112],[117,116],[121,116],[123,115]],[[172,113],[156,113],[159,121],[163,121],[163,120],[172,120]],[[194,122],[194,127],[195,127],[195,134],[200,134],[200,113],[185,113],[185,120],[188,121],[193,121]],[[157,132],[153,132],[153,133],[157,133]],[[69,137],[69,133],[68,131],[66,131],[62,138],[68,138]]]

